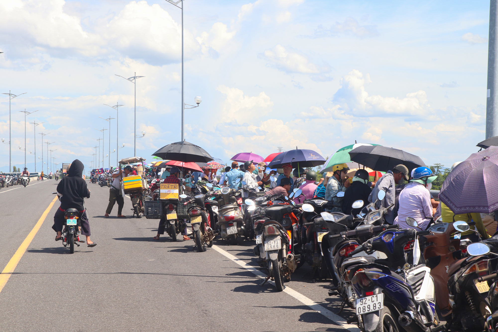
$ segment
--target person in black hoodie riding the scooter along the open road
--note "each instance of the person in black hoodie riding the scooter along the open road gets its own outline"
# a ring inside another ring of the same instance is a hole
[[[67,175],[57,185],[57,195],[59,195],[61,205],[55,212],[52,229],[57,232],[55,241],[61,240],[64,211],[69,208],[78,209],[81,213],[81,234],[87,237],[89,247],[95,247],[97,243],[90,240],[90,223],[88,222],[88,215],[84,205],[85,198],[90,198],[87,182],[82,177],[84,168],[83,163],[76,159],[67,167]]]

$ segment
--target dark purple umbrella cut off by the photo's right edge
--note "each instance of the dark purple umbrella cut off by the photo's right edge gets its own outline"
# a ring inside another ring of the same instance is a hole
[[[498,209],[498,147],[472,154],[446,177],[439,199],[455,214]]]

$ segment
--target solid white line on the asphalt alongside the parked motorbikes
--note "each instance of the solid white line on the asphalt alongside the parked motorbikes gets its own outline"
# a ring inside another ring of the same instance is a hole
[[[239,264],[240,266],[242,266],[246,270],[249,270],[250,272],[252,272],[256,276],[258,276],[259,278],[261,278],[261,279],[266,278],[266,276],[264,275],[264,273],[262,273],[261,271],[257,270],[255,267],[250,266],[249,264],[247,264],[243,260],[235,257],[234,255],[226,252],[225,250],[223,250],[222,248],[218,247],[217,245],[213,245],[213,249],[216,250],[216,251],[218,251],[223,256],[225,256],[225,257],[231,259],[232,261],[236,262],[237,264]],[[271,283],[272,285],[275,285],[275,283],[272,282],[272,281],[268,280],[267,282]],[[327,317],[332,322],[335,322],[335,323],[339,324],[342,328],[347,329],[347,330],[349,330],[351,332],[360,332],[360,329],[358,328],[358,326],[353,325],[353,324],[348,324],[346,322],[346,320],[344,318],[342,318],[341,316],[334,314],[333,312],[331,312],[328,309],[325,309],[324,307],[322,307],[318,303],[316,303],[313,300],[305,297],[301,293],[296,292],[292,288],[290,288],[288,286],[285,286],[285,288],[284,288],[283,291],[285,293],[289,294],[290,296],[292,296],[294,299],[300,301],[304,305],[310,307],[312,310],[315,310],[317,313],[319,313],[319,314]]]

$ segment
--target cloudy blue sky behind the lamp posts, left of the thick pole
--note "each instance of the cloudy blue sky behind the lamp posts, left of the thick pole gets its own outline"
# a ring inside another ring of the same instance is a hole
[[[186,1],[185,102],[203,99],[186,111],[186,140],[227,162],[296,146],[326,157],[356,140],[451,166],[485,138],[488,20],[486,1]],[[115,74],[135,71],[137,155],[179,141],[179,24],[164,0],[1,1],[0,92],[27,92],[12,100],[13,165],[24,108],[39,110],[28,120],[44,122],[58,162],[90,166],[95,128],[109,128],[99,116],[116,117],[103,104],[124,104],[111,151],[124,143],[130,157],[133,84]],[[33,151],[32,125],[27,136]]]

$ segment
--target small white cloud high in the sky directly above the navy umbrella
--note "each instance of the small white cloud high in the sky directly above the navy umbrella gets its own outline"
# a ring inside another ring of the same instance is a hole
[[[292,49],[288,50],[280,44],[265,50],[260,56],[268,60],[271,66],[286,73],[323,74],[330,71],[329,66],[318,66],[306,55]]]

